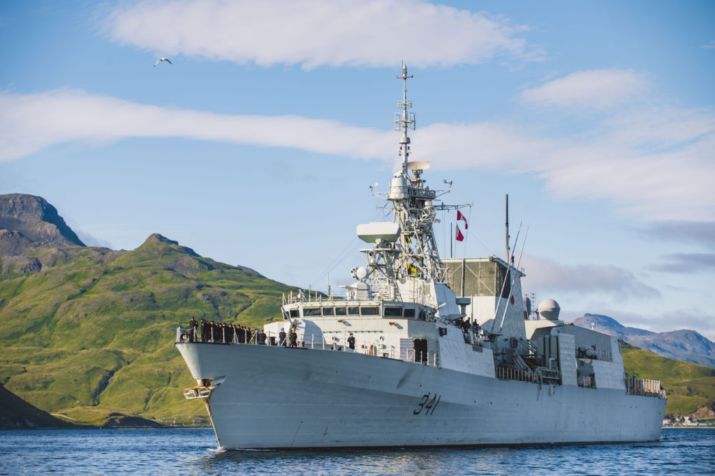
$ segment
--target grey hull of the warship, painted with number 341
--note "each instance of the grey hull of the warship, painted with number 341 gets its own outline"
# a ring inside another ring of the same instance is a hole
[[[539,445],[659,440],[666,400],[538,385],[358,353],[177,343],[221,447]],[[217,385],[218,384],[218,385]]]

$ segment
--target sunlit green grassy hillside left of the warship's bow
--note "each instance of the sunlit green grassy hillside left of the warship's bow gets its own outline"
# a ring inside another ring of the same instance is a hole
[[[132,251],[66,253],[39,273],[0,276],[0,383],[49,412],[101,405],[205,419],[182,396],[195,381],[174,349],[177,325],[193,315],[259,327],[290,291],[159,235]]]

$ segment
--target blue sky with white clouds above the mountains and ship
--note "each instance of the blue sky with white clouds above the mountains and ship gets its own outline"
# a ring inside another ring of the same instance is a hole
[[[713,1],[0,1],[0,193],[337,290],[391,221],[403,61],[410,158],[471,204],[441,255],[504,258],[508,194],[536,303],[715,340]]]

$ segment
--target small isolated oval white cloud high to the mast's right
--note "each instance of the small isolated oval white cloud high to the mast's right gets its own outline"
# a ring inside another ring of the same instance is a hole
[[[642,74],[630,69],[576,71],[527,89],[521,97],[531,103],[605,109],[640,96],[647,85]]]

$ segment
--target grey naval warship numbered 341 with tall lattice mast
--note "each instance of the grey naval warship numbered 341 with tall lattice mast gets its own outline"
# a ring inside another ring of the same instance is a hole
[[[373,191],[393,220],[358,225],[354,282],[284,296],[266,338],[177,328],[197,381],[184,396],[204,401],[227,449],[659,440],[659,381],[628,377],[618,339],[559,320],[556,301],[532,312],[508,231],[505,259],[440,259],[437,213],[467,222],[425,185],[429,163],[410,161],[411,77],[403,64],[401,168]]]

